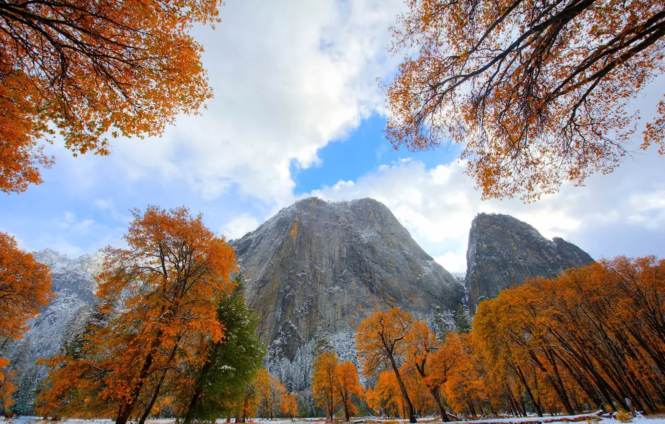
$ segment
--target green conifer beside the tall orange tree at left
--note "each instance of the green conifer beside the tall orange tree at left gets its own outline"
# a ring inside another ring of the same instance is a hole
[[[254,329],[259,317],[245,302],[245,278],[240,272],[237,286],[217,307],[217,319],[225,327],[224,338],[212,344],[209,361],[196,373],[194,393],[190,393],[185,423],[214,422],[231,413],[245,395],[255,370],[261,366],[265,350]]]

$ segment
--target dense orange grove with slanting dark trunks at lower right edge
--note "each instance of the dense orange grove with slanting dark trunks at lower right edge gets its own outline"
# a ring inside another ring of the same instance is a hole
[[[485,399],[520,415],[521,393],[539,415],[627,409],[626,399],[657,411],[665,401],[664,271],[654,257],[617,257],[481,302],[472,336]],[[453,397],[464,397],[456,383]]]

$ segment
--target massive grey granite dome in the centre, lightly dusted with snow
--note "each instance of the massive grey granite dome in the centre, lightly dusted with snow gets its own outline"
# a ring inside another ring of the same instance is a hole
[[[304,199],[231,244],[258,334],[289,358],[317,331],[354,328],[374,310],[427,316],[464,298],[464,286],[373,199]]]

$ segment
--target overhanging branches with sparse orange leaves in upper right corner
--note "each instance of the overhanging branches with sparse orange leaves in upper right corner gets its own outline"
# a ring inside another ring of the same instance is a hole
[[[406,3],[392,51],[416,54],[384,88],[386,134],[412,151],[461,144],[485,199],[531,201],[609,173],[651,118],[630,102],[665,70],[660,0]],[[665,153],[664,112],[661,101],[640,148]]]

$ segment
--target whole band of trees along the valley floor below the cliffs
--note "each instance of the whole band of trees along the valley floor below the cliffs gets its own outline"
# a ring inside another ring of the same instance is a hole
[[[212,422],[354,415],[442,421],[665,406],[665,260],[601,260],[464,308],[377,310],[321,332],[293,360],[266,350],[233,249],[185,207],[135,210],[108,247],[98,303],[72,326],[35,411],[51,419]],[[3,343],[48,304],[50,272],[0,239]],[[80,317],[78,317],[80,318]],[[78,319],[77,318],[77,319]],[[0,359],[0,371],[8,361]],[[15,375],[0,373],[11,413]]]

